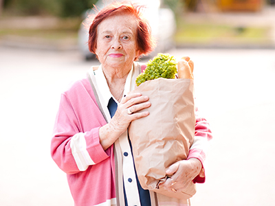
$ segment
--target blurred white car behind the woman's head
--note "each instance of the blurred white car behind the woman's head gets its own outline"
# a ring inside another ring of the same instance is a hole
[[[122,1],[122,0],[120,0]],[[96,9],[100,10],[104,8],[105,5],[111,3],[111,0],[100,0],[96,3]],[[167,49],[173,47],[173,35],[176,30],[175,23],[175,15],[170,8],[161,7],[161,0],[136,0],[132,1],[133,3],[140,3],[142,5],[146,5],[146,9],[144,10],[144,16],[148,20],[151,25],[152,34],[157,41],[157,46],[155,50],[148,55],[148,57],[156,56],[159,52],[165,52]],[[85,16],[83,16],[85,23],[85,19],[89,14],[94,14],[94,10],[87,10]],[[78,46],[81,54],[86,60],[93,59],[96,57],[95,54],[89,52],[88,47],[88,39],[89,39],[89,30],[87,27],[80,25],[80,29],[78,31]],[[87,22],[86,22],[87,23]]]

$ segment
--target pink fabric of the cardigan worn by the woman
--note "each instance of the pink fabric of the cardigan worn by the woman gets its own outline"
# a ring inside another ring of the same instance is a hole
[[[210,140],[212,135],[206,122],[196,113],[195,136]],[[113,146],[106,151],[100,145],[98,129],[107,124],[98,108],[88,79],[75,82],[61,95],[61,103],[54,125],[51,155],[67,181],[76,206],[91,206],[115,199],[115,161]],[[77,133],[85,133],[87,151],[94,161],[87,170],[80,171],[72,154],[70,141]],[[205,153],[191,149],[188,158],[195,157],[203,163]],[[203,183],[205,178],[194,182]],[[109,204],[111,205],[111,204]]]

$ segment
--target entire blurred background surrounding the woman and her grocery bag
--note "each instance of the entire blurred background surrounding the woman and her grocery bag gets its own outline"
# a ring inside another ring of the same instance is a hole
[[[109,0],[0,0],[0,205],[73,206],[50,157],[61,93],[98,60],[83,21]],[[273,0],[154,0],[157,52],[195,62],[214,139],[192,205],[275,203]]]

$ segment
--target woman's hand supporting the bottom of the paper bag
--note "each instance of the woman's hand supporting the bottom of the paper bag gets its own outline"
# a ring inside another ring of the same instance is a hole
[[[188,160],[177,161],[166,170],[168,178],[160,186],[169,192],[181,192],[186,190],[189,183],[199,174],[204,176],[201,170],[201,161],[199,159],[190,158]]]

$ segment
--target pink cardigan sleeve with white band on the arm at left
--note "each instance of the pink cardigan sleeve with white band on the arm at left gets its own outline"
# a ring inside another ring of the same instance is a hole
[[[98,135],[104,123],[88,118],[85,106],[74,106],[73,101],[61,95],[51,143],[52,159],[67,174],[87,170],[89,165],[100,163],[110,155],[110,149],[103,150]],[[82,122],[87,122],[90,128]]]

